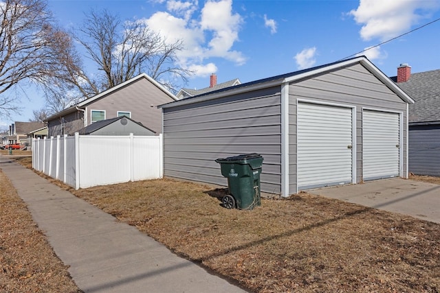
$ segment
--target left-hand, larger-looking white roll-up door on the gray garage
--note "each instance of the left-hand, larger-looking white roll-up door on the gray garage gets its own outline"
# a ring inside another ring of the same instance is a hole
[[[352,182],[351,108],[298,103],[298,190]]]

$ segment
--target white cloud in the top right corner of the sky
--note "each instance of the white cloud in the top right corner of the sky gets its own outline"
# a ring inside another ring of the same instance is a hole
[[[408,32],[412,25],[438,10],[439,5],[438,0],[360,0],[358,8],[349,15],[362,25],[363,40],[388,40]]]

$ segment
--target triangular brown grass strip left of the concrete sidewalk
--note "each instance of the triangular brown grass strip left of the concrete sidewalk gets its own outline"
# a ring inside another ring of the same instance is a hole
[[[0,292],[81,292],[0,171]]]

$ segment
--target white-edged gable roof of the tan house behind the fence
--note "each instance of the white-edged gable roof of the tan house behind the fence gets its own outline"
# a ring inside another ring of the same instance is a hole
[[[103,91],[102,93],[98,93],[98,95],[94,95],[93,97],[90,97],[89,99],[85,99],[83,102],[79,102],[78,104],[76,104],[72,107],[61,110],[60,112],[55,113],[54,115],[52,115],[50,117],[47,117],[47,119],[45,121],[50,121],[50,120],[58,118],[60,116],[64,116],[69,113],[72,113],[75,110],[78,110],[78,108],[87,106],[91,102],[96,101],[96,99],[100,99],[101,97],[104,97],[105,95],[108,95],[109,93],[113,93],[113,91],[118,91],[118,89],[121,89],[124,86],[128,86],[129,84],[131,84],[137,80],[140,80],[141,78],[146,78],[146,80],[148,80],[149,82],[151,82],[152,84],[157,86],[157,88],[160,89],[161,91],[163,91],[164,93],[166,93],[166,95],[168,95],[169,97],[171,97],[175,101],[178,100],[177,97],[175,95],[173,95],[173,93],[171,93],[170,91],[165,89],[164,86],[162,86],[162,84],[159,84],[159,82],[156,82],[155,80],[153,80],[153,78],[148,76],[146,73],[141,73],[140,75],[137,75],[134,78],[127,80],[126,82],[122,82],[122,84],[118,84],[117,86],[113,86],[111,89],[108,89],[107,91]]]

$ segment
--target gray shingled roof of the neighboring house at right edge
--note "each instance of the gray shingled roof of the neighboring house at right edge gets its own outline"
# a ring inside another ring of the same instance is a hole
[[[410,124],[440,124],[440,69],[411,73],[407,82],[397,86],[415,100],[409,105]]]

